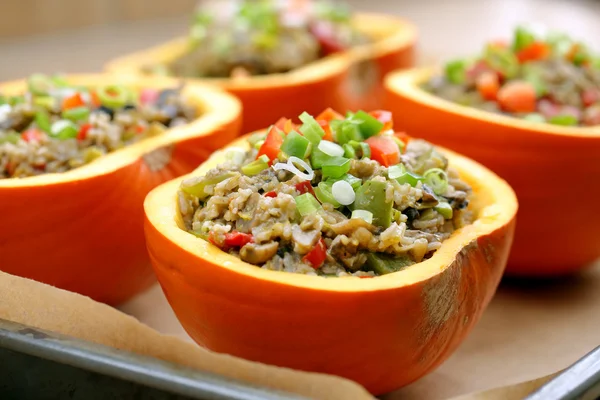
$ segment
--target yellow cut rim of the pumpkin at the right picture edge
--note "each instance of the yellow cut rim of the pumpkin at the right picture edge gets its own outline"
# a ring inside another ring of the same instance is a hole
[[[600,126],[564,127],[547,123],[526,121],[515,117],[494,114],[473,107],[456,104],[422,89],[420,85],[434,76],[434,74],[439,73],[439,70],[439,67],[425,67],[413,68],[405,71],[394,71],[386,76],[384,84],[389,91],[410,97],[419,104],[428,105],[437,110],[444,110],[454,115],[462,116],[472,120],[490,122],[507,128],[516,128],[558,136],[600,136]]]

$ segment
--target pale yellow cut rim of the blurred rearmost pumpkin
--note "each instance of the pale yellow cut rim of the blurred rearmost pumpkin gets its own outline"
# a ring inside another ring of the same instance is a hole
[[[252,90],[275,87],[290,87],[298,84],[321,81],[342,73],[355,62],[373,59],[413,45],[417,28],[406,19],[376,13],[356,13],[354,23],[359,29],[373,37],[381,38],[373,43],[356,46],[347,51],[316,60],[290,72],[252,76],[244,79],[198,78],[231,90]],[[107,71],[117,74],[142,74],[142,65],[152,62],[167,62],[185,48],[187,37],[178,37],[158,46],[118,57],[105,66]]]

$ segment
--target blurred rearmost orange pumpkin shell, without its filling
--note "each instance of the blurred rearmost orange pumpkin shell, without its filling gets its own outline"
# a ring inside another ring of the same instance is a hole
[[[244,79],[202,79],[236,95],[244,106],[243,131],[264,128],[281,116],[303,111],[317,115],[327,107],[376,109],[384,95],[383,77],[413,66],[416,28],[404,19],[358,14],[355,24],[373,38],[369,45],[324,57],[288,73]],[[107,70],[143,74],[143,66],[168,63],[187,48],[185,37],[109,62]]]

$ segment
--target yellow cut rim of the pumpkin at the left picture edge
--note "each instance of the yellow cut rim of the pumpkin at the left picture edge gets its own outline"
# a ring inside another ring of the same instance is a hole
[[[73,85],[87,87],[97,87],[110,82],[132,87],[166,88],[176,87],[181,83],[181,80],[174,78],[124,77],[108,74],[73,74],[67,75],[66,79]],[[6,94],[22,93],[26,84],[25,80],[5,82],[0,84],[0,92]],[[158,136],[131,144],[102,156],[90,164],[66,172],[47,173],[26,178],[0,179],[0,189],[49,186],[108,174],[129,165],[154,149],[192,137],[210,134],[214,129],[235,121],[241,115],[242,106],[240,101],[219,88],[197,82],[186,82],[183,93],[199,112],[198,118],[190,123],[170,128]]]

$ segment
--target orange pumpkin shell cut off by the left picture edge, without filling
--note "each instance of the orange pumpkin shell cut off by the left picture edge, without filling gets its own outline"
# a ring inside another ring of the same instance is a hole
[[[167,88],[170,79],[68,77],[75,85]],[[24,82],[0,87],[20,93]],[[188,84],[199,118],[64,173],[0,180],[0,269],[118,304],[154,281],[143,233],[143,201],[158,184],[193,170],[238,135],[240,104]]]

